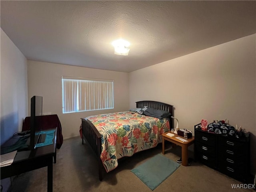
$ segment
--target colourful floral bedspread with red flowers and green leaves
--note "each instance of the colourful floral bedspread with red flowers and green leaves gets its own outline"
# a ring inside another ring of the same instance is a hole
[[[170,130],[167,118],[158,119],[125,111],[87,117],[102,135],[100,158],[110,172],[124,156],[153,148],[162,142],[161,135]]]

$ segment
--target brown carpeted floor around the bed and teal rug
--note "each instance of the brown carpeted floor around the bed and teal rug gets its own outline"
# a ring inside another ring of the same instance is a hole
[[[53,165],[54,192],[152,192],[130,170],[146,162],[156,154],[162,153],[162,145],[156,148],[122,158],[118,167],[109,173],[104,172],[102,182],[98,179],[98,165],[90,148],[79,137],[64,140],[57,150],[57,163]],[[181,148],[172,149],[166,143],[164,156],[176,161],[180,158]],[[193,153],[189,152],[193,157]],[[228,192],[234,191],[231,184],[240,184],[198,162],[184,167],[180,166],[172,175],[162,182],[154,192]],[[6,191],[6,189],[5,189]],[[41,168],[21,174],[12,179],[10,192],[46,192],[47,168]],[[236,191],[255,192],[248,189]]]

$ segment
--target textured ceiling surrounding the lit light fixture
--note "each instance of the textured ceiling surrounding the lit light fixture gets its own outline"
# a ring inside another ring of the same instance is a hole
[[[131,72],[256,33],[256,1],[0,1],[28,60]],[[113,40],[131,43],[114,54]]]

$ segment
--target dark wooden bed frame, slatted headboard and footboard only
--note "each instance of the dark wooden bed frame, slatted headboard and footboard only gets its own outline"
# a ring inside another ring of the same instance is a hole
[[[173,115],[173,106],[170,104],[156,102],[156,101],[138,101],[136,102],[136,108],[143,108],[144,106],[148,106],[150,108],[165,110]],[[90,145],[92,150],[97,156],[98,159],[98,172],[99,179],[102,180],[102,170],[104,169],[102,161],[100,159],[101,154],[101,134],[98,132],[96,127],[88,120],[87,118],[82,119],[82,144],[84,144],[84,140]],[[170,117],[170,128],[174,127],[174,121]]]

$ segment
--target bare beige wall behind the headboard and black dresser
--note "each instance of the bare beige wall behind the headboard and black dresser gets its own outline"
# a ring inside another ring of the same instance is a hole
[[[202,118],[229,120],[251,132],[256,162],[256,35],[131,72],[130,108],[139,100],[172,104],[180,128]],[[175,122],[176,124],[176,122]]]

